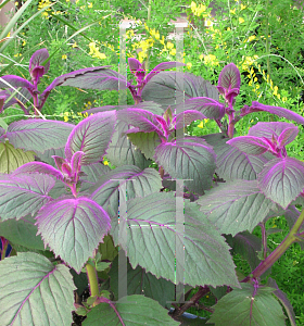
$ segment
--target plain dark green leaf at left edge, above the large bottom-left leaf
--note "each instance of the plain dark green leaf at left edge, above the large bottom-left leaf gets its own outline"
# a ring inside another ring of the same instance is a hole
[[[38,228],[35,218],[30,214],[15,221],[7,220],[0,222],[0,236],[13,244],[24,246],[29,249],[45,250],[45,243],[40,236],[37,236]]]

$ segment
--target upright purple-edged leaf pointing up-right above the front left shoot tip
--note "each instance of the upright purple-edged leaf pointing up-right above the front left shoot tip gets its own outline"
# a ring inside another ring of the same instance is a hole
[[[72,160],[77,151],[83,151],[81,165],[100,161],[106,152],[114,134],[116,111],[100,112],[83,120],[71,133],[65,158]]]

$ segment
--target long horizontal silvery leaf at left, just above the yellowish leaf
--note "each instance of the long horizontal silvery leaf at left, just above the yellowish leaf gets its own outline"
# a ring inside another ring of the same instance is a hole
[[[61,121],[22,120],[9,125],[5,137],[15,148],[43,153],[49,149],[61,148],[74,127]]]

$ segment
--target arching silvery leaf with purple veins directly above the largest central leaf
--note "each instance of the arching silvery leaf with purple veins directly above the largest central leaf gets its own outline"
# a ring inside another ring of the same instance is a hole
[[[123,179],[126,181],[123,181]],[[111,171],[89,189],[89,191],[93,191],[90,198],[105,210],[110,204],[117,213],[118,188],[122,184],[126,184],[128,200],[159,192],[162,188],[162,179],[156,170],[147,167],[141,171],[138,166],[125,165]]]

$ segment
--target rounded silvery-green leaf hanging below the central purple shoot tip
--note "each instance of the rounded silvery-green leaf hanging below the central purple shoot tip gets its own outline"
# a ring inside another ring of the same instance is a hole
[[[212,186],[216,155],[210,145],[198,137],[187,137],[161,143],[155,149],[155,162],[173,178],[190,179],[185,186],[202,195]]]

